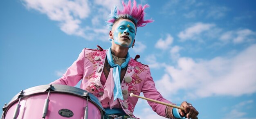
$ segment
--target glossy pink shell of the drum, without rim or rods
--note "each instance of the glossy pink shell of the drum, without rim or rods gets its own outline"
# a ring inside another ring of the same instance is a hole
[[[17,119],[42,119],[43,107],[48,92],[40,92],[22,97]],[[88,96],[89,97],[89,96]],[[13,119],[14,110],[18,99],[7,106],[4,119]],[[51,92],[49,95],[49,107],[45,119],[84,119],[86,98],[65,92]],[[72,117],[62,117],[58,114],[61,109],[73,112]],[[102,110],[97,104],[88,100],[88,119],[103,119]]]

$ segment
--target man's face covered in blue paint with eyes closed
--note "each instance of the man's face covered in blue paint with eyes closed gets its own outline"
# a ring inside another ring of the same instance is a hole
[[[114,42],[124,47],[132,47],[136,33],[136,27],[131,20],[121,19],[112,27]]]

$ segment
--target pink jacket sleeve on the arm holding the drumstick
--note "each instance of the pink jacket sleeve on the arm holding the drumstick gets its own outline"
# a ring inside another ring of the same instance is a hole
[[[147,71],[146,73],[146,79],[145,82],[142,86],[141,92],[143,92],[144,96],[146,98],[154,99],[157,101],[162,101],[165,103],[171,103],[170,101],[164,99],[162,95],[157,91],[155,88],[155,82],[153,81],[153,78],[150,74],[150,70]],[[151,106],[153,111],[155,111],[158,115],[162,117],[166,117],[166,106],[159,104],[159,103],[154,103],[151,101],[148,101],[148,104]]]

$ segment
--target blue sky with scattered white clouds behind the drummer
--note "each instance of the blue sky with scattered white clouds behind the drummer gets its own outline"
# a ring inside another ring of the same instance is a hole
[[[138,0],[150,5],[130,55],[148,64],[159,92],[188,101],[199,119],[256,119],[254,0]],[[1,0],[0,104],[48,84],[85,47],[110,47],[106,19],[119,0]],[[143,95],[143,94],[141,94]],[[165,119],[139,99],[135,115]]]

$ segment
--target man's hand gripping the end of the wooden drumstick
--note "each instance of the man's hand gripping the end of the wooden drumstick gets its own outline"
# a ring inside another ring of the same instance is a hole
[[[195,108],[190,103],[184,101],[181,103],[180,106],[185,109],[184,111],[179,109],[180,115],[182,115],[183,117],[186,116],[187,118],[191,119],[197,119],[196,116],[198,116],[198,111],[195,110]]]

